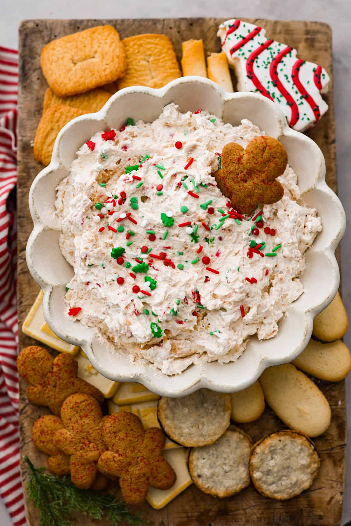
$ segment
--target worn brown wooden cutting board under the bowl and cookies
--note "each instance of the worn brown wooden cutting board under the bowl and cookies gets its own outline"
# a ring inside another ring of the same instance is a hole
[[[229,15],[228,15],[229,18]],[[54,38],[86,29],[111,24],[121,38],[140,33],[164,33],[171,38],[178,59],[181,44],[189,38],[203,38],[205,52],[218,52],[218,24],[225,18],[169,18],[124,20],[34,20],[19,28],[19,119],[18,119],[18,315],[19,327],[38,292],[25,261],[25,247],[32,230],[28,209],[28,191],[34,177],[43,168],[33,157],[33,139],[42,115],[43,97],[47,87],[39,65],[42,47]],[[267,35],[297,48],[300,58],[325,67],[332,77],[332,33],[327,24],[317,22],[283,22],[247,19],[261,25]],[[333,85],[326,95],[329,105],[320,123],[308,132],[322,149],[327,165],[327,183],[336,191],[335,131]],[[33,345],[35,340],[19,331],[19,348]],[[312,487],[293,500],[279,502],[261,497],[252,486],[234,497],[216,499],[200,492],[195,485],[187,488],[162,510],[147,503],[139,511],[157,526],[334,526],[340,523],[345,483],[346,406],[344,382],[316,381],[332,407],[332,422],[326,433],[315,440],[322,459],[320,472]],[[39,453],[31,441],[34,421],[47,411],[29,404],[25,397],[26,383],[20,382],[20,423],[23,483],[28,480],[23,457],[28,454],[35,466],[44,466],[46,456]],[[269,432],[284,429],[275,414],[266,409],[259,420],[242,427],[254,441]],[[26,496],[28,524],[39,526],[38,513]],[[92,521],[75,516],[82,526],[107,526],[107,521]]]

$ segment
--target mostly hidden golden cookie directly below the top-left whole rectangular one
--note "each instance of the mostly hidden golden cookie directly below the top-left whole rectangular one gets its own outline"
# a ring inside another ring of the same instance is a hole
[[[51,88],[47,88],[44,95],[43,112],[55,104],[64,104],[71,106],[71,108],[81,109],[83,112],[95,113],[104,106],[110,97],[111,94],[102,88],[95,88],[81,95],[72,95],[72,97],[59,97]]]

